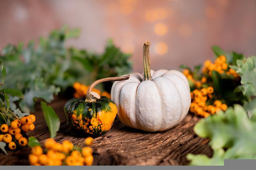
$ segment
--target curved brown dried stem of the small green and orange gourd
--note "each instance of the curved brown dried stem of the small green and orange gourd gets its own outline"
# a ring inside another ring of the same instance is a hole
[[[100,99],[100,95],[98,93],[91,92],[92,89],[94,88],[94,86],[96,86],[97,84],[99,84],[101,82],[122,81],[122,80],[127,80],[129,78],[130,78],[130,75],[121,76],[121,77],[107,77],[107,78],[102,78],[102,79],[96,80],[88,88],[88,90],[86,92],[86,99],[85,99],[85,101],[86,102],[96,102],[97,99]]]

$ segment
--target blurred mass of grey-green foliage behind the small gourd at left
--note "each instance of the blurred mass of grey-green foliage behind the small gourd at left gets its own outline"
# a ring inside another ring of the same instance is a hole
[[[72,86],[75,81],[90,84],[94,80],[127,74],[131,71],[130,55],[124,54],[109,41],[103,54],[89,53],[75,47],[66,48],[68,39],[76,38],[79,29],[67,26],[39,38],[36,45],[30,41],[26,47],[7,45],[0,55],[6,68],[0,63],[5,88],[20,90],[25,99],[10,97],[10,108],[18,102],[22,111],[34,110],[36,99],[51,102],[60,90]]]

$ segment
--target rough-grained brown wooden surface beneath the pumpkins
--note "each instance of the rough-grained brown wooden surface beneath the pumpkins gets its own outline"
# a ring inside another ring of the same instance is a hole
[[[70,140],[74,145],[84,146],[84,138],[76,136],[66,124],[64,105],[66,99],[60,97],[50,105],[60,116],[61,126],[56,141]],[[36,105],[34,113],[37,117],[36,128],[28,136],[36,137],[41,144],[49,137],[40,105]],[[206,154],[212,156],[208,140],[198,137],[193,127],[200,118],[188,114],[185,119],[170,130],[147,133],[129,128],[118,119],[112,129],[94,139],[94,165],[186,165],[186,155]],[[0,153],[0,165],[28,165],[26,148],[17,152],[8,151],[9,156]]]

